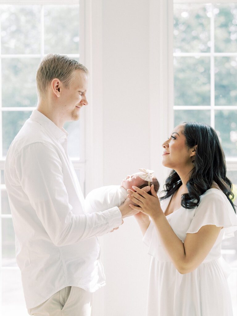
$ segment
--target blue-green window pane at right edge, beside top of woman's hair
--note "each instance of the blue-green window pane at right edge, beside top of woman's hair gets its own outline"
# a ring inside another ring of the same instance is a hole
[[[225,155],[237,157],[237,110],[215,111],[215,129]]]

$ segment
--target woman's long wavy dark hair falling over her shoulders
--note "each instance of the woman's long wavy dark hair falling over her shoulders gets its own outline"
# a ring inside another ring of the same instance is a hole
[[[213,181],[232,202],[234,194],[232,183],[226,176],[225,155],[216,131],[209,125],[196,122],[185,122],[183,134],[186,138],[187,148],[197,145],[193,169],[186,184],[188,193],[181,197],[181,205],[186,209],[196,207],[200,203],[200,196],[211,188]],[[175,170],[172,170],[164,185],[164,200],[173,195],[182,185],[181,179]],[[193,201],[194,200],[194,201]]]

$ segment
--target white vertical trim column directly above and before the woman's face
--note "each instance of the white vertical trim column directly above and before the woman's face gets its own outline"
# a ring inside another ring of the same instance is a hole
[[[150,0],[149,22],[150,166],[162,185],[161,144],[173,129],[173,1]]]

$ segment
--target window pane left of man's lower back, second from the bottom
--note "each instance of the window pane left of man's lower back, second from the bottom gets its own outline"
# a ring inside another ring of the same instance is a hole
[[[15,232],[11,218],[2,218],[2,266],[16,266]]]

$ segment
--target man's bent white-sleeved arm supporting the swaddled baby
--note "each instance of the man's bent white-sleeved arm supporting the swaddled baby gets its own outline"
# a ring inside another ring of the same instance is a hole
[[[122,216],[128,213],[123,209],[121,214],[114,207],[93,214],[73,214],[62,162],[50,144],[33,143],[24,147],[15,159],[15,167],[24,192],[56,246],[106,234],[121,225]]]

